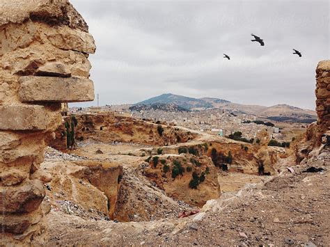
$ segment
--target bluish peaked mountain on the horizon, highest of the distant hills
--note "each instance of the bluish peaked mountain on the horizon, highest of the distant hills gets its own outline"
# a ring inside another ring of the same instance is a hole
[[[150,99],[146,99],[142,102],[136,104],[155,104],[155,103],[162,103],[162,104],[176,104],[184,109],[206,109],[206,108],[213,108],[213,104],[210,102],[206,102],[203,99],[196,99],[193,97],[186,97],[182,95],[173,95],[171,93],[165,93],[163,95],[159,95],[157,97],[152,97]]]

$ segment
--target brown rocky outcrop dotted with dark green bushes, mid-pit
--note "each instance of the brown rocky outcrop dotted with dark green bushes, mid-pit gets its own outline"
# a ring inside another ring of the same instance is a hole
[[[144,170],[144,175],[171,198],[201,207],[207,200],[219,198],[221,194],[217,168],[209,157],[164,154],[152,157],[148,161],[150,164]],[[196,186],[193,186],[190,183],[195,173]]]

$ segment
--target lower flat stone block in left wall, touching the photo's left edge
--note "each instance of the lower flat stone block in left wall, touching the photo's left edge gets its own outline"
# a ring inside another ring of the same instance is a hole
[[[61,115],[38,105],[0,105],[0,130],[45,130]]]

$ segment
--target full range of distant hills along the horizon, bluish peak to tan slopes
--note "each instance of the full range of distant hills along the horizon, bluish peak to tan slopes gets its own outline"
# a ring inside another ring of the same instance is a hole
[[[301,109],[288,104],[276,104],[275,106],[258,106],[237,104],[229,102],[225,99],[217,99],[212,97],[203,97],[196,99],[193,97],[185,97],[182,95],[173,95],[166,93],[157,97],[146,99],[139,104],[175,104],[184,109],[189,110],[204,110],[204,109],[227,109],[234,113],[251,114],[260,118],[268,118],[269,120],[276,120],[279,122],[314,122],[317,118],[316,112],[312,110]]]

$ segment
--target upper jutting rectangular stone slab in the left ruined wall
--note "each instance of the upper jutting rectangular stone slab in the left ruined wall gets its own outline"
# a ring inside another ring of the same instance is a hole
[[[86,102],[94,100],[93,81],[79,77],[21,77],[22,102]]]

